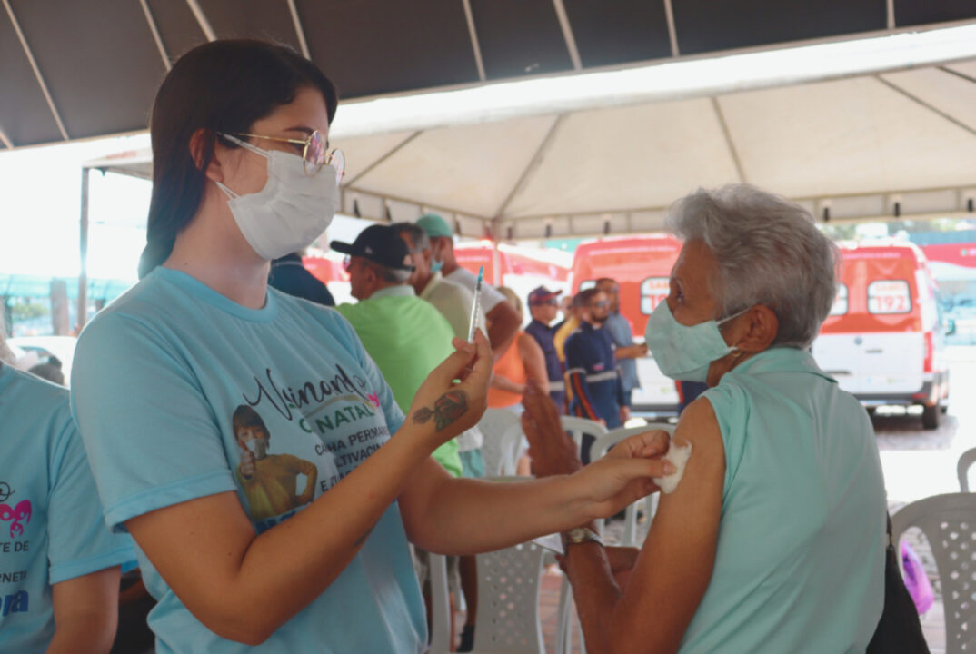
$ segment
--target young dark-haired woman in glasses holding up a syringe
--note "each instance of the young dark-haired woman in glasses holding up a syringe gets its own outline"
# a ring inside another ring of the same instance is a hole
[[[336,104],[292,51],[216,41],[152,108],[142,280],[82,334],[72,407],[159,600],[160,654],[422,652],[408,539],[507,547],[619,511],[667,470],[640,458],[664,447],[648,441],[571,476],[453,479],[429,454],[484,409],[484,336],[455,342],[404,418],[345,319],[267,288],[268,262],[337,209]]]

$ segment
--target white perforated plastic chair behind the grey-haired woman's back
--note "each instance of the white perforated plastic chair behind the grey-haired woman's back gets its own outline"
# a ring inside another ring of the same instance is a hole
[[[932,547],[942,582],[946,654],[976,651],[976,495],[950,493],[913,502],[891,516],[891,525],[896,544],[915,526]]]

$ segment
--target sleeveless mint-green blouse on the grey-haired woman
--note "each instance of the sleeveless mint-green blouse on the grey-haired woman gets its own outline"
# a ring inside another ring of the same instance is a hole
[[[712,580],[679,651],[863,653],[884,599],[886,506],[864,408],[791,347],[704,396],[725,484]]]

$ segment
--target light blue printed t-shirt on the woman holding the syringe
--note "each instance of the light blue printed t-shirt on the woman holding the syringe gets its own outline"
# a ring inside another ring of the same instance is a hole
[[[262,532],[328,492],[400,428],[403,414],[336,311],[267,291],[237,305],[158,267],[78,342],[75,417],[115,528],[142,513],[236,491]],[[242,455],[255,459],[250,476]],[[247,648],[204,627],[139,550],[159,654],[420,652],[424,603],[397,503],[311,604]],[[263,601],[262,598],[255,598]]]

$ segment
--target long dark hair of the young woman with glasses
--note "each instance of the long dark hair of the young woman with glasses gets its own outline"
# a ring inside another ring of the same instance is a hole
[[[285,46],[249,39],[214,41],[176,62],[156,93],[149,120],[152,196],[140,278],[166,261],[177,234],[193,220],[217,134],[250,131],[256,120],[308,87],[321,92],[331,123],[338,103],[335,86],[314,63]],[[190,140],[200,130],[205,139],[197,165]]]

